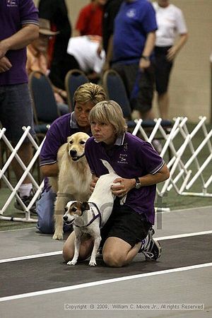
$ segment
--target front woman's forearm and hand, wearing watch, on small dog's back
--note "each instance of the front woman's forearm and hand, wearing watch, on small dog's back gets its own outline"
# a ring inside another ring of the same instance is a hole
[[[154,175],[150,173],[148,175],[144,175],[143,177],[139,177],[139,181],[141,182],[141,187],[147,187],[153,184],[157,184],[165,181],[170,177],[170,172],[167,168],[167,165],[163,165],[163,167],[156,172]],[[117,178],[114,180],[114,183],[120,182],[117,186],[112,186],[112,193],[115,196],[124,196],[127,192],[133,189],[136,185],[136,179],[124,179]]]

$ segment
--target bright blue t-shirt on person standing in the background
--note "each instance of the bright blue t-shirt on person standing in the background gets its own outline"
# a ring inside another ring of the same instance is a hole
[[[149,1],[124,1],[114,20],[113,61],[124,64],[139,61],[148,33],[155,30],[155,10]]]

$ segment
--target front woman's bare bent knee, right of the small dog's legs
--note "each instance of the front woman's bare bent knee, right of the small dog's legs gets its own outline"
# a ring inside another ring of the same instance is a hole
[[[140,242],[132,248],[129,243],[119,237],[108,237],[102,251],[105,264],[111,267],[129,264],[139,252],[140,247]]]

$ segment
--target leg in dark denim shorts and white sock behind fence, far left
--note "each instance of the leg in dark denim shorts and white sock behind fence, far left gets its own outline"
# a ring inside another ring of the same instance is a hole
[[[6,128],[6,136],[11,141],[13,147],[20,140],[23,135],[23,126],[31,126],[30,134],[35,136],[33,125],[33,108],[28,89],[28,84],[19,84],[4,86],[4,105],[1,108],[1,122]],[[4,107],[3,107],[4,106]],[[28,167],[30,160],[33,158],[33,148],[28,138],[23,141],[23,144],[18,150],[18,155],[26,167]],[[17,181],[23,175],[23,168],[20,166],[16,158],[11,163],[15,172]],[[31,179],[26,176],[23,183],[20,185],[18,192],[20,197],[30,196],[33,188]],[[21,207],[20,207],[21,208]],[[21,208],[22,209],[22,208]]]

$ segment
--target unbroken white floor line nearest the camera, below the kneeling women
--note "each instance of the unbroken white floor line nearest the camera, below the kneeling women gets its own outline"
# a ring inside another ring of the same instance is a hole
[[[47,294],[52,294],[52,293],[61,293],[61,292],[69,291],[69,290],[76,290],[76,289],[81,289],[81,288],[93,287],[93,286],[97,286],[97,285],[104,285],[107,283],[117,283],[119,281],[129,281],[129,280],[135,279],[135,278],[163,275],[166,273],[177,273],[179,271],[190,271],[192,269],[202,269],[202,268],[205,268],[208,266],[212,266],[212,263],[184,266],[184,267],[179,267],[178,269],[166,269],[165,271],[155,271],[153,273],[143,273],[143,274],[137,274],[137,275],[132,275],[132,276],[124,276],[124,277],[120,277],[120,278],[106,279],[104,281],[94,281],[91,283],[84,283],[84,284],[66,286],[66,287],[61,287],[61,288],[39,290],[39,291],[33,292],[33,293],[25,293],[25,294],[2,297],[2,298],[0,298],[0,302],[5,302],[7,300],[16,300],[16,299],[20,299],[20,298],[29,298],[29,297],[40,296],[40,295],[47,295]]]

